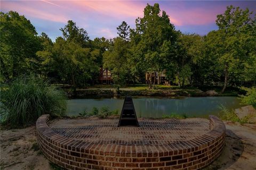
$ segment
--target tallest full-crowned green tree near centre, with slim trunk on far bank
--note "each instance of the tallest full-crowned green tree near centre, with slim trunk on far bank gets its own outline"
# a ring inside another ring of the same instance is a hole
[[[154,6],[147,4],[143,18],[136,19],[135,23],[136,29],[131,30],[132,43],[135,45],[133,58],[150,73],[151,89],[153,72],[162,71],[173,56],[177,33],[169,16],[165,11],[161,12],[157,3]]]

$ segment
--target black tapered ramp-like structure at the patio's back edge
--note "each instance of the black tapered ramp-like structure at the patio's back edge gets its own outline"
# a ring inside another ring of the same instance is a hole
[[[136,126],[139,127],[136,112],[134,109],[131,96],[125,96],[122,113],[119,119],[118,127],[120,126]]]

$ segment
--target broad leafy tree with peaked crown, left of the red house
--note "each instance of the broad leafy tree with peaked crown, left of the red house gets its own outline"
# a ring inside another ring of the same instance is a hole
[[[68,21],[61,30],[63,37],[58,37],[55,43],[45,33],[39,37],[43,49],[36,54],[42,59],[43,72],[55,82],[74,87],[87,86],[99,72],[101,49],[87,47],[89,37],[86,31],[73,21]]]

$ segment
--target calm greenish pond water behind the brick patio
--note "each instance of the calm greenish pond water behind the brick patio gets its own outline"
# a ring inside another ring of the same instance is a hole
[[[91,112],[93,107],[108,106],[110,111],[122,111],[124,98],[71,99],[68,100],[67,115],[73,116],[83,111]],[[137,117],[161,118],[163,115],[186,114],[188,117],[208,117],[218,115],[220,106],[228,109],[241,107],[237,97],[185,97],[158,98],[133,97]]]

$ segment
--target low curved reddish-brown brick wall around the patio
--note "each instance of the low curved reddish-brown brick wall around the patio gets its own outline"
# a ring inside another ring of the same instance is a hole
[[[225,125],[210,116],[210,131],[166,145],[101,144],[64,137],[49,128],[49,115],[36,122],[39,147],[46,158],[66,169],[201,169],[221,154]]]

